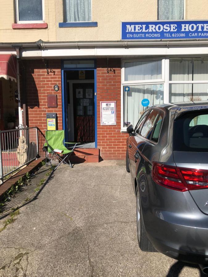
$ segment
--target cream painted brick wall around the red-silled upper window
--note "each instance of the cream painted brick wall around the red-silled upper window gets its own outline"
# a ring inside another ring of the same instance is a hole
[[[55,41],[55,0],[44,0],[47,29],[12,29],[14,0],[0,0],[0,42]]]

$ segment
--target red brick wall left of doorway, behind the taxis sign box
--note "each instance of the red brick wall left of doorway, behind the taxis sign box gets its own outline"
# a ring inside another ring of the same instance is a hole
[[[38,126],[45,134],[46,113],[57,113],[58,130],[62,130],[62,96],[61,96],[61,61],[48,60],[48,67],[55,71],[47,74],[42,60],[22,61],[21,90],[25,89],[27,126]],[[59,91],[54,90],[54,85],[59,85]],[[24,87],[23,87],[24,86]],[[47,107],[47,95],[57,94],[58,107]],[[22,104],[22,101],[21,101]]]

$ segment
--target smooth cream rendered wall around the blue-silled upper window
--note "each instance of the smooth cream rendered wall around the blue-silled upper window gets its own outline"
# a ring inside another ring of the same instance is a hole
[[[56,21],[63,22],[62,0],[56,0]],[[57,41],[120,40],[120,22],[157,20],[157,0],[92,0],[92,21],[98,27],[58,28]]]

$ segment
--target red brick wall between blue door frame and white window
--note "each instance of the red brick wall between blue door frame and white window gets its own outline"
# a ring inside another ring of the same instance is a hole
[[[107,58],[97,59],[97,146],[103,159],[125,159],[126,138],[121,133],[121,61],[109,59],[108,66],[116,70],[107,73]],[[116,101],[116,125],[100,125],[100,101]]]

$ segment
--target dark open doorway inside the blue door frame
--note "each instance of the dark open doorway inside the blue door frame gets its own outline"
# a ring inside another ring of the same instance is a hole
[[[94,70],[70,70],[66,78],[68,141],[95,148]]]

